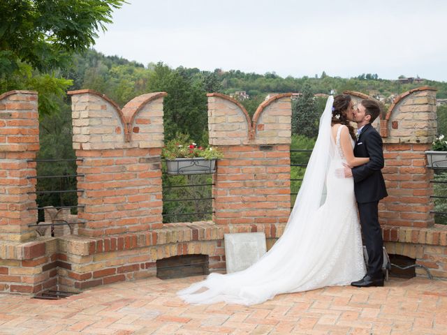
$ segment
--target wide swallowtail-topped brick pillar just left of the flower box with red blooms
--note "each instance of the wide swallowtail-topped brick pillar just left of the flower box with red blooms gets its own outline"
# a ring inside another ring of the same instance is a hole
[[[69,91],[78,161],[79,218],[87,236],[161,228],[163,97],[143,94],[121,110],[95,91]]]

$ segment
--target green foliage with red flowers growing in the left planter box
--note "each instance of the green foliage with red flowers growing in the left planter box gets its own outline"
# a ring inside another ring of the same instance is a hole
[[[200,147],[189,139],[189,135],[177,133],[161,151],[161,156],[166,159],[195,158],[205,159],[222,158],[223,154],[216,147]]]

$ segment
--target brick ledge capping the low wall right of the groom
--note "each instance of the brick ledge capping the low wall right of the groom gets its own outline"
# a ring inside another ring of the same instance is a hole
[[[447,246],[447,225],[430,228],[382,226],[383,241]]]

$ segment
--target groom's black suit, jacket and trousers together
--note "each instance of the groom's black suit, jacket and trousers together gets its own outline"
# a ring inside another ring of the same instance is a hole
[[[369,157],[369,162],[352,169],[354,193],[369,258],[367,274],[373,277],[381,274],[383,265],[383,239],[378,217],[379,200],[388,195],[381,172],[384,165],[382,145],[381,136],[376,129],[371,124],[366,124],[356,141],[354,156]]]

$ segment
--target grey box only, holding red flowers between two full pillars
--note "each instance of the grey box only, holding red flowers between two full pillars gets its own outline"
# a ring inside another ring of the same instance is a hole
[[[166,160],[168,174],[205,174],[216,172],[216,159],[175,158]]]

